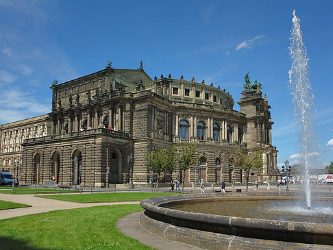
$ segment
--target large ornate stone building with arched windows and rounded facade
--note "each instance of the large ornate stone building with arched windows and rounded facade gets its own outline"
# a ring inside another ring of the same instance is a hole
[[[50,88],[49,114],[0,125],[0,164],[11,171],[16,166],[20,184],[54,177],[59,185],[145,185],[153,176],[145,165],[148,149],[181,149],[189,142],[197,144],[199,160],[186,172],[186,184],[196,177],[243,182],[244,173],[227,161],[236,148],[263,149],[262,173],[251,179],[276,180],[271,107],[259,88],[242,92],[240,112],[220,87],[171,75],[151,79],[142,64],[136,70],[108,64]]]

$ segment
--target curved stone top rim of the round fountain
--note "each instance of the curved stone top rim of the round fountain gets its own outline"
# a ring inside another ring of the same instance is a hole
[[[189,202],[189,201],[209,201],[216,199],[297,199],[297,196],[256,196],[254,195],[234,195],[234,194],[205,194],[205,195],[172,195],[162,197],[151,197],[144,199],[140,205],[145,210],[163,216],[179,218],[188,221],[199,221],[201,223],[210,223],[212,225],[224,225],[232,228],[249,228],[259,230],[272,230],[281,232],[306,233],[328,235],[333,237],[333,223],[309,223],[300,221],[277,221],[262,218],[245,218],[236,216],[224,216],[215,214],[203,214],[197,212],[186,212],[165,208],[171,203]]]

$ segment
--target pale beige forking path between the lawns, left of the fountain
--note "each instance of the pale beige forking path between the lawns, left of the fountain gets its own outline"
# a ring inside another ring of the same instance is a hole
[[[29,208],[0,210],[0,219],[23,216],[27,214],[39,214],[42,212],[49,212],[54,210],[95,207],[97,205],[123,205],[123,204],[140,203],[140,201],[75,203],[71,201],[58,201],[55,199],[45,199],[45,198],[35,197],[34,195],[10,195],[10,194],[1,194],[1,193],[0,193],[0,200],[32,205],[32,207]]]

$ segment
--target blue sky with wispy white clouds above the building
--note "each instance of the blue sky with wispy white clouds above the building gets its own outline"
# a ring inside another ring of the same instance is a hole
[[[50,112],[53,79],[138,68],[221,86],[235,102],[243,77],[262,83],[273,145],[297,158],[288,90],[293,9],[301,19],[314,92],[318,167],[333,160],[333,1],[0,0],[0,123]],[[234,105],[239,110],[238,104]]]

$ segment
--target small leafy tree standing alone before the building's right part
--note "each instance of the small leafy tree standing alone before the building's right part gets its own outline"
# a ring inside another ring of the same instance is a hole
[[[245,171],[245,185],[246,192],[248,190],[249,174],[251,170],[262,170],[262,150],[257,149],[254,152],[246,153],[241,149],[236,149],[233,155],[228,158],[230,164],[234,164],[236,168],[243,169]]]

